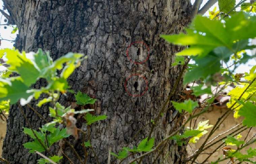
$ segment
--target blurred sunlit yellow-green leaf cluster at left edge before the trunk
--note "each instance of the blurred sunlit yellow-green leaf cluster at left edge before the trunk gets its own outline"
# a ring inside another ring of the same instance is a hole
[[[0,101],[10,100],[10,103],[14,104],[21,100],[22,105],[27,104],[32,97],[38,99],[41,93],[46,93],[52,98],[42,100],[39,106],[58,97],[54,96],[54,91],[65,93],[69,88],[66,79],[83,60],[82,54],[68,53],[53,61],[49,53],[44,54],[40,49],[36,54],[32,54],[32,57],[29,57],[31,54],[11,49],[0,50],[0,57],[3,55],[7,59],[6,64],[9,65],[7,70],[18,73],[19,76],[0,78]],[[63,64],[66,64],[64,68]],[[62,70],[60,76],[57,70]],[[38,90],[30,89],[39,78],[45,78],[48,85]]]

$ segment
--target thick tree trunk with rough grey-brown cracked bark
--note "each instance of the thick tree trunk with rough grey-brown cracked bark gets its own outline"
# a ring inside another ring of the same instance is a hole
[[[107,163],[110,148],[117,153],[127,143],[132,148],[149,135],[151,125],[131,140],[141,127],[157,116],[181,71],[181,66],[171,66],[174,54],[181,47],[166,43],[159,34],[174,34],[183,30],[190,21],[189,0],[3,1],[11,15],[10,21],[19,28],[15,47],[20,51],[43,48],[49,50],[54,59],[68,52],[88,56],[70,76],[69,85],[75,91],[96,98],[93,106],[95,114],[108,116],[91,128],[83,119],[77,118],[77,127],[90,131],[91,144],[100,163]],[[181,90],[182,82],[178,93]],[[72,94],[62,95],[59,102],[76,107]],[[48,106],[37,108],[36,101],[31,104],[50,120]],[[183,122],[181,115],[170,121],[172,110],[167,112],[169,114],[164,113],[154,130],[152,136],[156,144]],[[45,123],[29,108],[26,108],[25,114],[34,129]],[[36,163],[40,157],[28,153],[22,145],[30,140],[21,131],[22,127],[28,127],[28,124],[17,105],[13,105],[2,156],[15,164]],[[69,137],[68,140],[84,158],[81,134],[79,138]],[[62,155],[61,150],[75,164],[79,163],[70,147],[62,141],[51,151]],[[180,163],[185,155],[185,147],[170,141],[156,163]],[[144,158],[142,163],[153,163],[156,156],[157,153],[154,153]],[[68,163],[65,157],[61,162]],[[117,162],[111,157],[111,164]],[[96,163],[91,151],[87,163]]]

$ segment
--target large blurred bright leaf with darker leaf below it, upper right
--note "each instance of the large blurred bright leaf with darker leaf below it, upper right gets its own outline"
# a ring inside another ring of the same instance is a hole
[[[243,12],[226,17],[224,21],[211,20],[197,15],[186,34],[161,35],[166,41],[178,45],[189,45],[177,56],[190,56],[196,63],[185,74],[184,83],[198,79],[208,79],[209,76],[221,71],[221,62],[232,60],[232,54],[242,50],[252,49],[249,39],[256,36],[253,28],[256,26],[256,17]],[[247,56],[245,56],[247,57]],[[236,62],[242,60],[235,59]],[[248,59],[243,60],[243,62]]]

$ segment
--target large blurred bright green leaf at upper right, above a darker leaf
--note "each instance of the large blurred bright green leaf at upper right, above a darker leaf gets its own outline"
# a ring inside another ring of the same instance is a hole
[[[206,56],[217,47],[225,46],[231,51],[237,40],[254,38],[255,19],[256,16],[248,17],[247,14],[238,12],[231,18],[225,19],[226,23],[222,23],[221,20],[210,20],[197,15],[190,28],[186,29],[187,34],[161,35],[161,37],[170,43],[190,45],[188,49],[177,55]]]

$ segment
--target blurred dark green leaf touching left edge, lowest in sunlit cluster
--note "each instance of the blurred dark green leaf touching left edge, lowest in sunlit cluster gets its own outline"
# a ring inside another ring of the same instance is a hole
[[[0,101],[10,99],[10,104],[15,104],[19,99],[28,99],[32,95],[32,93],[27,93],[29,87],[19,78],[12,78],[8,82],[9,84],[0,85]]]

